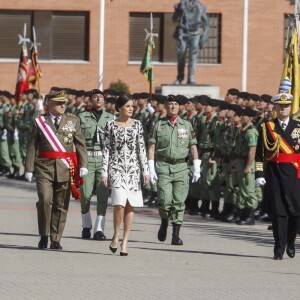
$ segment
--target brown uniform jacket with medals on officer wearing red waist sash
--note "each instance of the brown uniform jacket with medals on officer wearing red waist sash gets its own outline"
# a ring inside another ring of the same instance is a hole
[[[84,137],[80,129],[79,118],[66,113],[62,115],[59,128],[56,129],[53,121],[51,120],[50,114],[47,113],[44,117],[46,124],[51,127],[65,150],[67,152],[73,152],[76,150],[79,167],[87,168],[87,153]],[[36,177],[42,177],[57,182],[68,181],[70,179],[69,169],[64,165],[61,159],[39,158],[40,150],[53,151],[53,148],[41,129],[38,127],[35,119],[31,127],[27,147],[25,172],[35,171]]]

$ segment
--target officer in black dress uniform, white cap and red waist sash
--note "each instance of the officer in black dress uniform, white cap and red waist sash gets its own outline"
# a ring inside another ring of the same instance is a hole
[[[262,124],[256,152],[256,183],[265,184],[271,204],[275,260],[285,251],[295,256],[300,223],[300,122],[289,117],[292,99],[287,93],[272,98],[277,118]]]

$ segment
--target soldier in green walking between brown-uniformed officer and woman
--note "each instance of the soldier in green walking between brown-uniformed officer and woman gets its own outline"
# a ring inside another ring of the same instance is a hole
[[[78,115],[82,134],[85,138],[88,153],[88,175],[81,186],[81,217],[82,238],[91,237],[92,217],[90,213],[90,200],[97,196],[97,218],[94,226],[94,240],[105,240],[104,226],[109,189],[101,184],[101,165],[103,148],[103,128],[106,122],[114,116],[105,110],[103,92],[94,89],[90,92],[92,109]]]

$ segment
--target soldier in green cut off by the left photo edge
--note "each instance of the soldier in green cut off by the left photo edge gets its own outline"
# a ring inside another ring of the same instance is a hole
[[[8,142],[7,142],[7,129],[5,128],[4,115],[10,110],[9,102],[10,93],[7,91],[2,92],[2,104],[0,107],[0,165],[2,171],[1,176],[10,174],[11,159],[9,156]]]

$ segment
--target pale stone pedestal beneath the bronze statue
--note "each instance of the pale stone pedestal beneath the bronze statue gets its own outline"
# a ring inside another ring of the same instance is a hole
[[[220,87],[212,85],[162,84],[161,93],[162,95],[184,95],[188,98],[199,95],[207,95],[210,98],[220,99]]]

